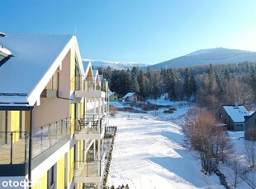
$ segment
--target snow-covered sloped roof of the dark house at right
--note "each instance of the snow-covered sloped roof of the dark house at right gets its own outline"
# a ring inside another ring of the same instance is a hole
[[[244,116],[249,116],[249,112],[244,106],[223,106],[225,112],[229,114],[234,122],[244,122]]]

